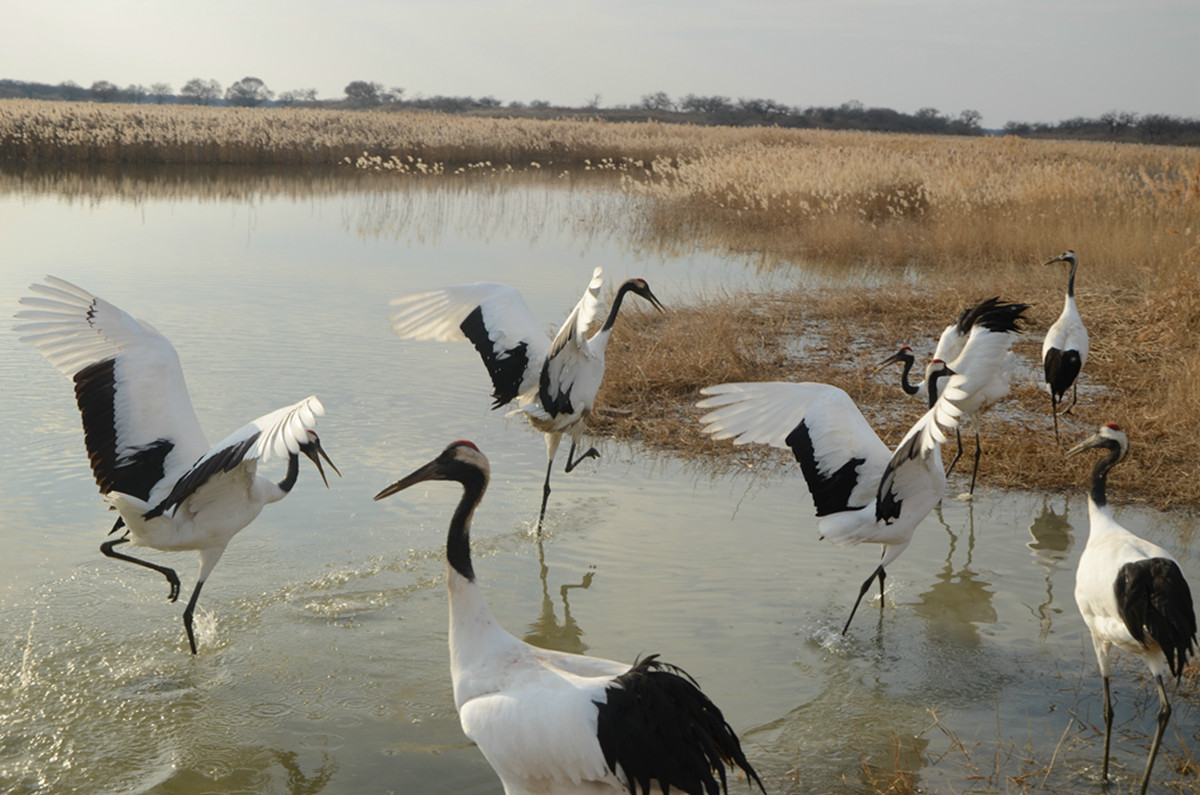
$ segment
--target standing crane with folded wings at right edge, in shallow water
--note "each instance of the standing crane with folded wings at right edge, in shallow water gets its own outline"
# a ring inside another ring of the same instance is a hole
[[[1075,603],[1092,633],[1096,662],[1104,683],[1104,764],[1100,779],[1109,777],[1109,740],[1112,703],[1109,697],[1109,653],[1112,647],[1136,654],[1146,663],[1158,688],[1158,729],[1150,746],[1141,793],[1163,741],[1171,705],[1166,700],[1168,673],[1183,673],[1196,642],[1196,616],[1192,590],[1180,564],[1162,546],[1134,536],[1112,518],[1106,495],[1109,470],[1129,452],[1129,440],[1116,423],[1100,425],[1091,438],[1067,452],[1068,458],[1091,448],[1108,450],[1096,462],[1087,496],[1087,545],[1075,572]]]

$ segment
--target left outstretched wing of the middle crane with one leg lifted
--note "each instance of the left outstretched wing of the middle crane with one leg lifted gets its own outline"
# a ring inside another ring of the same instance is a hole
[[[538,388],[550,339],[512,287],[480,282],[391,299],[391,328],[409,340],[470,340],[496,406]]]

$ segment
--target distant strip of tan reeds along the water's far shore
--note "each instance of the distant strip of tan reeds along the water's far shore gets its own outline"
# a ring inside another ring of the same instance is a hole
[[[426,112],[96,104],[0,100],[0,161],[584,168],[698,154],[779,132]],[[534,166],[536,165],[536,166]]]

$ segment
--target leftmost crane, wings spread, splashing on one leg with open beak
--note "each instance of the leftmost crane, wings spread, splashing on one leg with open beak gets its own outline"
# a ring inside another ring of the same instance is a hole
[[[337,472],[317,437],[325,410],[305,398],[244,425],[209,447],[184,383],[179,354],[162,334],[80,287],[47,276],[17,312],[22,341],[74,383],[84,441],[104,501],[120,513],[101,551],[158,572],[179,598],[174,569],[116,551],[120,544],[169,552],[198,551],[200,572],[184,610],[196,653],[192,614],[200,588],[229,540],[263,507],[286,497],[299,474],[299,454]],[[258,474],[259,461],[286,458],[278,483]],[[341,473],[338,473],[341,474]],[[329,486],[329,482],[325,480]]]

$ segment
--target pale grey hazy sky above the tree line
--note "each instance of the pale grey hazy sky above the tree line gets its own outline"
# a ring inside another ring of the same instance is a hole
[[[16,0],[0,78],[1200,118],[1196,0]]]

